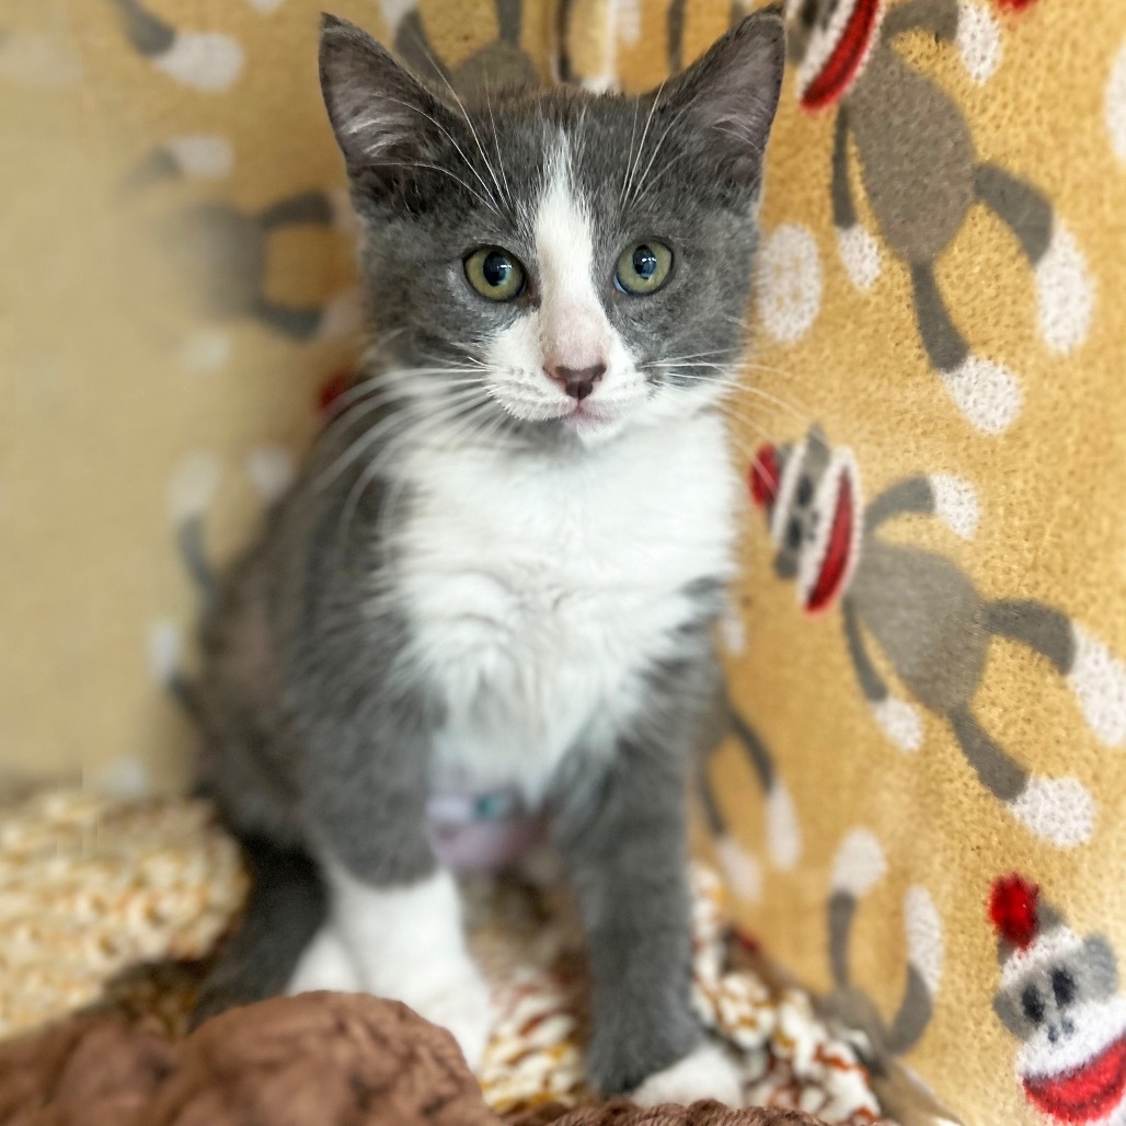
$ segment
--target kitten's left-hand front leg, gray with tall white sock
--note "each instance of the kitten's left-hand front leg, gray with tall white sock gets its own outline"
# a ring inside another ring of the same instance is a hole
[[[377,482],[348,491],[315,526],[289,699],[304,743],[304,830],[321,863],[333,932],[364,989],[449,1028],[472,1065],[490,1028],[489,997],[462,931],[450,875],[430,846],[427,802],[440,709],[395,664],[405,625],[373,570],[386,529]],[[373,591],[379,597],[374,597]]]

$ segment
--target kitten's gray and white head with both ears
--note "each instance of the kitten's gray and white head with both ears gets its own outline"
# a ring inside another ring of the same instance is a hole
[[[742,349],[783,60],[762,11],[644,97],[459,99],[327,18],[372,316],[412,394],[581,445],[714,401]]]

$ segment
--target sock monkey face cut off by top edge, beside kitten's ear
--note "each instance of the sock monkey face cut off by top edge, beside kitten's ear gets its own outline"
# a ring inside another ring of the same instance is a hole
[[[822,109],[848,92],[868,59],[882,0],[787,0],[787,54],[797,63],[797,96]]]

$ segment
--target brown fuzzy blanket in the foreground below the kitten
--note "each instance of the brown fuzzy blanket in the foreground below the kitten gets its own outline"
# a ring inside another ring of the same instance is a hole
[[[501,1126],[453,1037],[405,1006],[306,993],[234,1009],[172,1043],[81,1016],[0,1051],[3,1126]],[[518,1126],[814,1126],[718,1103],[558,1103]]]

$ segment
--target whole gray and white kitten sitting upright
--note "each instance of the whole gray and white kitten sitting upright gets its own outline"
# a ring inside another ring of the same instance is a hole
[[[690,1000],[685,790],[783,59],[760,11],[645,97],[458,97],[325,19],[381,343],[204,624],[203,783],[256,879],[200,1015],[367,990],[477,1062],[486,991],[432,816],[461,786],[549,824],[595,1082],[738,1100]]]

